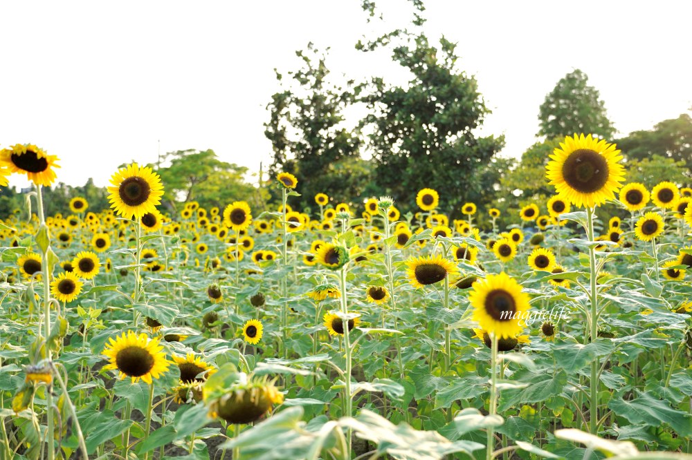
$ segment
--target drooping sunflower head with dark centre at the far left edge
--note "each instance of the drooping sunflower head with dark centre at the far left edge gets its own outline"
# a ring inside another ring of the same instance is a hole
[[[17,144],[0,151],[0,167],[3,171],[26,173],[28,180],[36,185],[53,184],[57,177],[53,168],[60,168],[55,164],[57,159],[33,144]]]

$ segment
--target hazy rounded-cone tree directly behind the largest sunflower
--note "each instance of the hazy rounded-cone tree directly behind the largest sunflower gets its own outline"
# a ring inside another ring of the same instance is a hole
[[[538,136],[548,139],[576,134],[592,134],[610,139],[612,123],[600,99],[599,91],[588,85],[589,77],[576,69],[560,79],[540,105]]]

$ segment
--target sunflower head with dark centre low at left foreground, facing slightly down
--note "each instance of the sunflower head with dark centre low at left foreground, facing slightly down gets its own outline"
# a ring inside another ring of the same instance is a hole
[[[123,332],[115,340],[109,338],[102,354],[110,362],[105,370],[118,370],[120,378],[131,377],[132,383],[141,378],[151,384],[152,378],[159,378],[170,366],[158,338],[149,339],[147,334],[132,331]]]

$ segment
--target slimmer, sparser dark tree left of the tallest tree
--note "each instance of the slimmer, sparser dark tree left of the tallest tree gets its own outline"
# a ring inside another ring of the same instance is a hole
[[[354,94],[329,82],[326,55],[313,44],[295,55],[302,60],[302,68],[288,73],[289,88],[275,93],[266,106],[270,119],[264,124],[264,135],[271,141],[274,158],[270,174],[273,178],[284,171],[298,176],[302,196],[292,204],[300,209],[314,207],[316,193],[327,193],[336,202],[348,200],[360,190],[347,186],[345,180],[365,182],[362,168],[349,169],[360,156],[361,140],[343,123],[343,111]],[[283,82],[283,75],[275,73]],[[361,176],[353,177],[353,173]]]

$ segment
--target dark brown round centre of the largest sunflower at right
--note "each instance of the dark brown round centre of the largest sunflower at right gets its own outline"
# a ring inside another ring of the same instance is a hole
[[[565,182],[581,193],[593,193],[608,182],[608,161],[603,155],[580,148],[574,151],[563,164]]]

